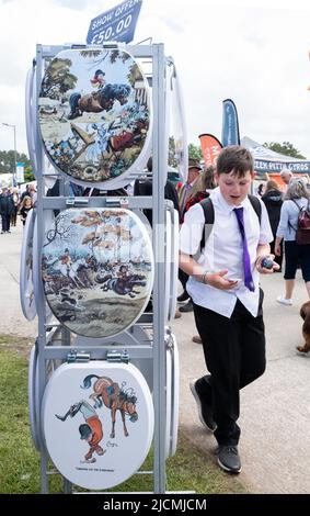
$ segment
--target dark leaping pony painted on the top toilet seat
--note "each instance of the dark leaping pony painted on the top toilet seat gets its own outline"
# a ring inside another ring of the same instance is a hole
[[[116,100],[118,100],[120,105],[124,105],[128,100],[129,93],[129,85],[105,85],[97,91],[92,91],[84,96],[74,92],[69,98],[71,112],[68,115],[68,120],[81,116],[84,111],[87,113],[111,111]]]

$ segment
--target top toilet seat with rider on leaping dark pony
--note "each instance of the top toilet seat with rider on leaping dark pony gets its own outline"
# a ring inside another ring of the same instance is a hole
[[[127,52],[61,51],[45,71],[37,108],[48,158],[78,184],[113,190],[148,159],[149,87]]]

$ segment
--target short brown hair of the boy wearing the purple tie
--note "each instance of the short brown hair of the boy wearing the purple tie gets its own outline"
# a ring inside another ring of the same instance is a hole
[[[254,170],[253,156],[245,147],[240,145],[229,145],[225,147],[217,158],[216,164],[218,173],[233,173],[238,177],[244,177],[250,170]]]

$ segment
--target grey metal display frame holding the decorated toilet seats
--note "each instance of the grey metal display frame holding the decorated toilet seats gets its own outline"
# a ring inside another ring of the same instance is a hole
[[[151,360],[152,362],[152,393],[154,405],[154,433],[153,433],[153,471],[142,472],[151,473],[153,475],[153,493],[165,493],[167,478],[165,478],[165,425],[168,424],[165,416],[165,315],[164,305],[162,303],[162,292],[169,285],[164,284],[164,234],[165,234],[165,217],[164,211],[173,210],[171,202],[164,201],[164,184],[167,180],[167,160],[165,160],[165,74],[167,74],[167,58],[164,56],[163,44],[151,45],[117,45],[106,44],[102,48],[118,48],[124,49],[131,54],[135,58],[151,59],[152,63],[152,110],[153,110],[153,126],[152,126],[152,159],[153,170],[157,173],[152,177],[153,194],[152,197],[93,197],[93,198],[73,198],[69,195],[69,181],[60,173],[55,171],[55,177],[60,180],[60,197],[46,197],[45,194],[45,177],[50,177],[50,172],[46,171],[46,159],[44,146],[41,138],[38,117],[36,116],[37,100],[41,90],[41,82],[45,71],[45,65],[48,59],[53,58],[60,51],[73,48],[88,48],[88,45],[37,45],[36,46],[36,60],[33,67],[34,94],[30,91],[32,105],[28,111],[28,119],[35,124],[33,127],[33,138],[31,137],[31,147],[33,155],[35,155],[35,168],[37,179],[37,249],[41,253],[43,248],[43,238],[45,234],[44,211],[45,210],[65,210],[68,207],[128,207],[129,210],[137,209],[152,209],[152,248],[154,255],[154,283],[153,283],[153,312],[145,313],[140,316],[135,325],[124,332],[123,334],[104,339],[88,339],[87,345],[71,341],[71,334],[68,329],[61,327],[60,323],[50,323],[47,321],[46,301],[41,280],[41,260],[36,260],[36,268],[33,271],[38,280],[37,289],[35,292],[37,301],[37,316],[38,316],[38,336],[36,339],[36,359],[37,359],[37,400],[42,408],[43,394],[47,382],[46,363],[51,361],[87,361],[90,359],[126,361],[126,352],[130,356],[134,363],[135,360],[139,362],[143,360]],[[28,88],[30,90],[31,88]],[[35,99],[35,100],[34,100]],[[27,100],[26,100],[27,102]],[[28,100],[30,102],[30,100]],[[30,128],[31,130],[31,128]],[[34,147],[34,149],[33,149]],[[128,183],[140,176],[145,177],[145,172],[133,173],[129,177]],[[54,176],[51,173],[51,176]],[[55,329],[57,332],[55,332]],[[57,338],[55,339],[55,335]],[[60,335],[60,336],[59,336]],[[148,335],[149,338],[148,338]],[[120,344],[115,344],[119,337]],[[77,340],[77,339],[76,339]],[[81,339],[82,340],[82,339]],[[100,341],[100,345],[97,344]],[[37,416],[37,426],[39,435],[37,436],[37,445],[41,452],[41,492],[48,493],[48,452],[44,445],[42,410]],[[139,472],[141,473],[141,472]],[[64,479],[64,492],[71,493],[71,483]],[[142,493],[142,492],[141,492]]]

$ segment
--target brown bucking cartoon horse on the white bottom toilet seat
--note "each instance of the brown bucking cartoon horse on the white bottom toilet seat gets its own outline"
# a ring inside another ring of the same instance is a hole
[[[120,411],[123,429],[125,437],[128,437],[128,430],[126,427],[125,415],[128,414],[129,420],[135,423],[138,419],[138,414],[136,411],[137,396],[129,394],[128,392],[123,391],[118,383],[114,382],[108,377],[97,377],[96,374],[89,374],[83,380],[82,389],[89,389],[92,383],[92,379],[96,378],[97,380],[93,384],[93,393],[89,396],[91,400],[94,400],[94,407],[101,407],[102,403],[111,410],[112,417],[112,430],[110,437],[113,439],[115,437],[115,419],[116,411]]]

